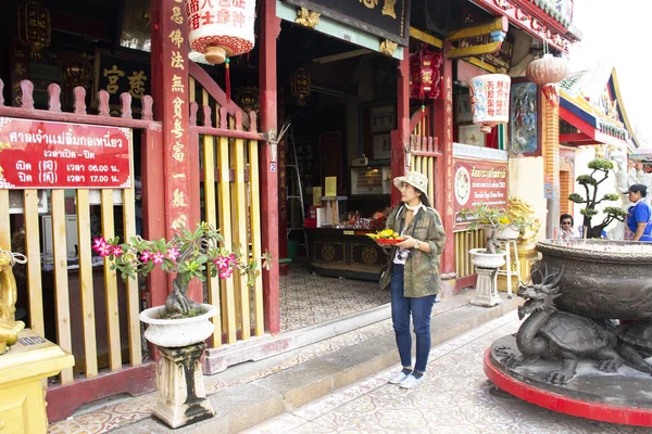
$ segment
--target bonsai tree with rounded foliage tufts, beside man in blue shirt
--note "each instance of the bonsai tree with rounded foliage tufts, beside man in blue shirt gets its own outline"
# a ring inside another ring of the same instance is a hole
[[[585,197],[578,193],[573,193],[568,196],[569,201],[577,204],[585,204],[580,213],[584,216],[584,233],[586,238],[600,238],[602,230],[614,220],[625,221],[627,213],[617,206],[605,206],[602,212],[605,217],[599,225],[592,226],[591,219],[599,213],[597,206],[602,202],[612,202],[619,199],[616,193],[606,193],[602,197],[598,197],[598,187],[609,178],[609,171],[614,168],[614,164],[606,159],[595,158],[589,162],[588,167],[592,169],[590,175],[580,175],[577,177],[577,183],[584,187]]]

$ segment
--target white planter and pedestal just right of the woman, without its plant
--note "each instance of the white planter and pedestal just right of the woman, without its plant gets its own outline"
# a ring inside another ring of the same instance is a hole
[[[485,248],[472,248],[468,253],[478,275],[476,295],[471,303],[476,306],[486,307],[500,304],[500,296],[498,295],[498,269],[505,264],[505,253],[486,253]]]

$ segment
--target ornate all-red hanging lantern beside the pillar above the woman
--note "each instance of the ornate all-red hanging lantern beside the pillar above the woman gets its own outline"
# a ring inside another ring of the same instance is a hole
[[[410,54],[410,98],[423,101],[439,97],[442,63],[443,55],[425,47]]]

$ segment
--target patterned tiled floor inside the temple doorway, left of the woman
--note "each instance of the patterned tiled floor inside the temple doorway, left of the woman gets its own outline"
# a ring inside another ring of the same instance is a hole
[[[389,303],[377,282],[313,276],[297,261],[280,277],[280,330],[284,332],[358,314]]]

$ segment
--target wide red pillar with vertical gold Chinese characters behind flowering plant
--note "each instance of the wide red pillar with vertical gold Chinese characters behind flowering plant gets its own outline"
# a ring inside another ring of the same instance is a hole
[[[188,31],[180,0],[151,0],[152,93],[154,114],[163,124],[165,232],[191,227],[188,99]],[[171,277],[172,278],[172,277]],[[188,295],[201,302],[201,286]]]

